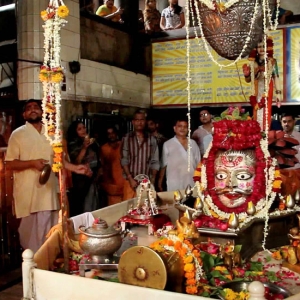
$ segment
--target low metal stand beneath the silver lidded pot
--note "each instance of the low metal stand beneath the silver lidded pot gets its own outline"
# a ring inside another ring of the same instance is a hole
[[[119,260],[120,257],[113,256],[111,259],[107,259],[105,262],[96,263],[90,257],[83,258],[79,263],[79,275],[81,277],[85,277],[87,270],[96,269],[103,271],[103,278],[117,277]]]

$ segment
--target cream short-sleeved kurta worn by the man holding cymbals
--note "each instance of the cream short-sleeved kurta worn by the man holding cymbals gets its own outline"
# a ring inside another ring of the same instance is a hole
[[[45,159],[52,163],[53,150],[44,136],[44,127],[39,133],[33,125],[26,122],[13,131],[8,141],[5,160],[15,159]],[[59,209],[54,173],[51,172],[44,185],[39,183],[40,174],[36,169],[14,171],[13,195],[17,218],[27,217],[39,211]]]

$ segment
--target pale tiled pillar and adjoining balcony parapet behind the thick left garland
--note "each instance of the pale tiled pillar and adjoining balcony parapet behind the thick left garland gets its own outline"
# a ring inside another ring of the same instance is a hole
[[[66,91],[62,93],[63,99],[149,107],[149,77],[80,58],[79,0],[66,0],[65,4],[70,10],[70,15],[67,18],[68,24],[61,32],[61,59],[62,65],[66,68]],[[43,21],[40,18],[40,11],[47,5],[47,0],[19,1],[19,58],[37,62],[19,62],[20,100],[42,98],[42,84],[38,79],[40,67],[38,63],[42,62],[44,56]],[[76,80],[68,68],[68,62],[73,60],[79,60],[81,63],[81,71],[76,75]]]

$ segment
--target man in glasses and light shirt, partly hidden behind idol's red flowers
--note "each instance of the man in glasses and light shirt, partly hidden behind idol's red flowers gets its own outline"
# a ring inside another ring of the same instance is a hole
[[[212,140],[213,122],[210,108],[208,106],[203,106],[200,109],[199,120],[202,125],[193,132],[192,139],[198,144],[202,157],[209,145],[209,142]],[[209,135],[209,137],[206,138],[207,142],[204,143],[204,137],[207,135]]]

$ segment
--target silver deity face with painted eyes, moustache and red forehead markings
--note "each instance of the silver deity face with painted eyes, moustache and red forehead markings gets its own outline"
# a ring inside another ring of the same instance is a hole
[[[214,166],[216,194],[222,204],[228,208],[244,204],[253,192],[254,151],[220,151]]]

